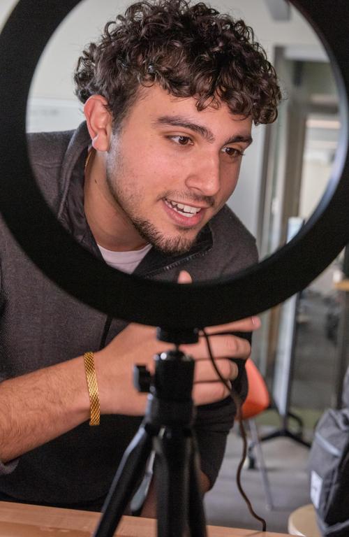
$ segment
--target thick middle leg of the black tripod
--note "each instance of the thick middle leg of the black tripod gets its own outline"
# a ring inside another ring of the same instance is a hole
[[[166,427],[162,433],[154,438],[158,536],[182,537],[188,520],[191,438],[182,427]]]

